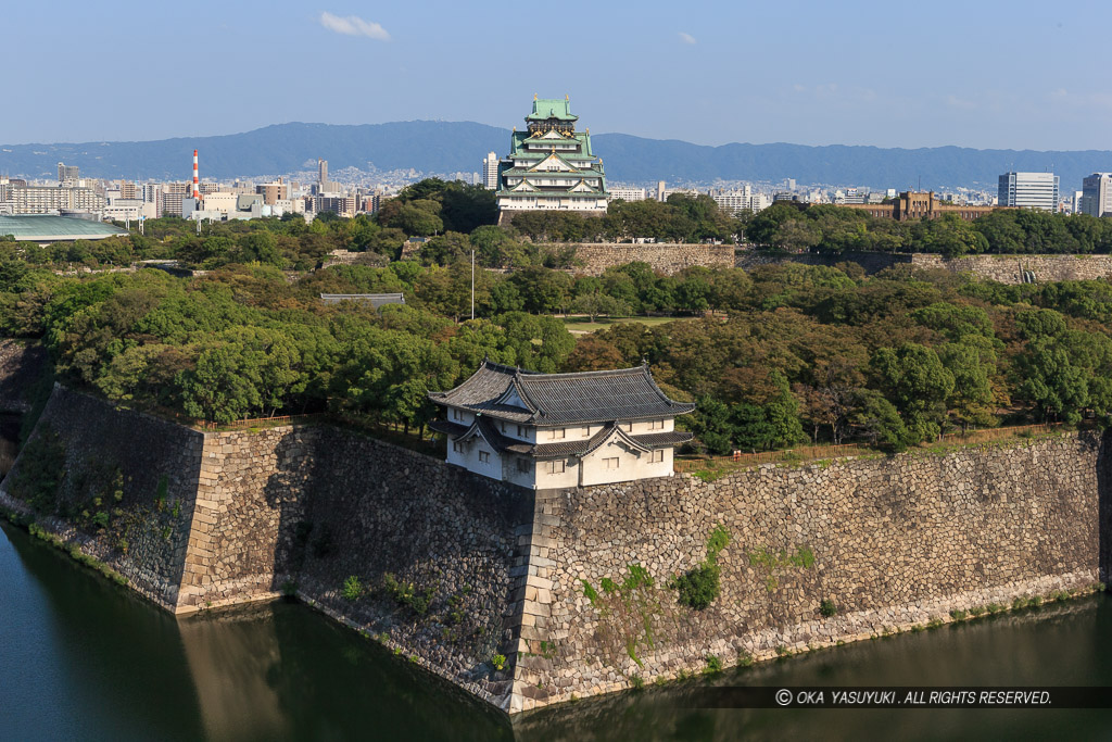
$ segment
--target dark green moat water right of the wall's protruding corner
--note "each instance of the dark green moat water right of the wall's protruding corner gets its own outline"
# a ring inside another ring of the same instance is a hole
[[[713,680],[578,701],[517,720],[522,739],[1103,739],[1095,710],[701,709],[709,685],[1112,685],[1112,597],[823,650]],[[1112,699],[1110,699],[1112,702]]]

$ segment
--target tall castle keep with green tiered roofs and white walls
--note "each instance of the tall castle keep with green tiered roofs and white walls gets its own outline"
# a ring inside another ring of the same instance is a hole
[[[603,160],[590,150],[590,130],[575,130],[578,118],[566,96],[534,97],[526,130],[514,129],[498,162],[499,221],[515,211],[606,212]]]

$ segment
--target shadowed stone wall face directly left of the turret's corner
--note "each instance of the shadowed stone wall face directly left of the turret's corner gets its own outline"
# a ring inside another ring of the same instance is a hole
[[[275,587],[296,583],[456,682],[504,692],[508,673],[489,662],[515,639],[512,572],[533,493],[331,427],[312,429],[312,449],[306,463],[279,444],[265,487],[280,513]],[[345,596],[353,577],[358,595]]]

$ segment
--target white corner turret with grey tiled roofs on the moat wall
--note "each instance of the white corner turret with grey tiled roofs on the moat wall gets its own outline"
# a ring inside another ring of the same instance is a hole
[[[548,489],[672,476],[673,448],[692,438],[647,365],[538,374],[484,360],[449,392],[429,393],[443,417],[448,463],[493,479]]]

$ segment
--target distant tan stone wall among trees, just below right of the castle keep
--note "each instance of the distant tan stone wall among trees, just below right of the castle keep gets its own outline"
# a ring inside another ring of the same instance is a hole
[[[654,270],[668,276],[692,266],[728,268],[734,265],[733,245],[575,243],[545,244],[542,248],[554,253],[575,248],[576,259],[583,261],[575,273],[587,276],[600,276],[607,268],[635,260],[647,263]]]

